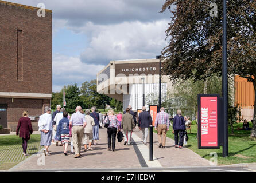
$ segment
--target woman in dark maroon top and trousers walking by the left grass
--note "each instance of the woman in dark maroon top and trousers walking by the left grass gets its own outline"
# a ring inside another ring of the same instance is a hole
[[[23,112],[23,117],[20,118],[18,122],[18,126],[16,129],[16,135],[20,134],[20,138],[22,138],[22,149],[23,155],[26,156],[26,149],[28,148],[28,140],[30,139],[30,134],[33,133],[32,124],[30,118],[28,118],[28,112]],[[19,133],[20,130],[20,133]]]

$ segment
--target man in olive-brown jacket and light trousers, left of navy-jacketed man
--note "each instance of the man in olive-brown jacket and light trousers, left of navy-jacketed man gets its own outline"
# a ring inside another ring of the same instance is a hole
[[[133,120],[133,115],[130,114],[130,109],[126,108],[126,113],[123,114],[121,128],[123,129],[125,136],[125,144],[131,145],[131,130],[135,129],[135,123]]]

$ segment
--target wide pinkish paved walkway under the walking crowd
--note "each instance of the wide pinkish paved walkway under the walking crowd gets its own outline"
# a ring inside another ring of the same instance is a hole
[[[96,146],[92,145],[93,151],[84,152],[81,158],[74,158],[69,153],[64,156],[63,146],[52,144],[49,148],[51,155],[44,157],[38,152],[27,160],[14,166],[11,171],[22,170],[75,170],[75,169],[144,169],[144,168],[173,168],[210,166],[208,160],[201,158],[198,154],[188,148],[174,148],[174,141],[170,138],[166,140],[166,148],[158,148],[157,134],[154,133],[154,161],[149,161],[149,143],[143,145],[141,142],[142,133],[138,127],[133,132],[133,145],[123,145],[123,142],[116,141],[115,152],[107,150],[107,129],[99,129],[99,141]],[[149,138],[149,137],[148,137]],[[148,140],[149,142],[149,140]],[[70,149],[70,146],[69,146]],[[43,162],[45,165],[38,165]]]

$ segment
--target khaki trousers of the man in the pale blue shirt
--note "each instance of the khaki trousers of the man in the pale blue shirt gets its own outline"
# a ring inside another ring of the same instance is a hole
[[[73,126],[72,127],[72,140],[73,146],[75,149],[75,154],[79,154],[81,152],[81,144],[84,135],[83,126]]]

